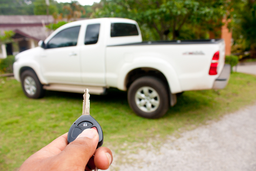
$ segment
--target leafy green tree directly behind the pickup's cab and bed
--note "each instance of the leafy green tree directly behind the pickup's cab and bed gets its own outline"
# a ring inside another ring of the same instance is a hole
[[[226,0],[101,0],[93,17],[123,17],[136,20],[154,39],[176,39],[184,25],[203,29],[222,25],[230,3]],[[172,33],[172,34],[169,34]]]

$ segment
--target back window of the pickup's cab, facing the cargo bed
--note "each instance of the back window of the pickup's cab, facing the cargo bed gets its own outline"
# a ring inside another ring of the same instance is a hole
[[[111,24],[111,37],[119,36],[137,36],[139,32],[136,25],[128,23],[112,23]]]

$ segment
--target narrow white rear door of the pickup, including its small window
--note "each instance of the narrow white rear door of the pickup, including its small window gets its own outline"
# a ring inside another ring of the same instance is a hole
[[[86,85],[105,86],[105,42],[102,28],[102,23],[86,26],[81,46],[81,75]]]

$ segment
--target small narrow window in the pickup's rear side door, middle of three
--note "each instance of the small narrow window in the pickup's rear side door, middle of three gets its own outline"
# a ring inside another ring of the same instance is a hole
[[[86,28],[86,38],[84,38],[84,45],[97,44],[99,39],[100,24],[88,25]]]

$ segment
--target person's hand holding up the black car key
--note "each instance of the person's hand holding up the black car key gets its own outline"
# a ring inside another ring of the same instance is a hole
[[[68,133],[58,137],[30,156],[19,171],[34,170],[92,170],[108,169],[113,161],[109,148],[96,149],[99,135],[94,129],[84,130],[75,141],[68,144]],[[94,159],[91,158],[94,154]]]

